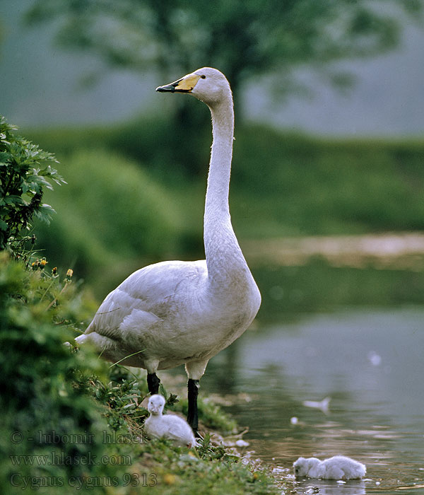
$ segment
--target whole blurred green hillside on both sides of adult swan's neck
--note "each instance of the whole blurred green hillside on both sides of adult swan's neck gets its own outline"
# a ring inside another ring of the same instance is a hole
[[[201,257],[211,135],[172,122],[26,132],[68,185],[37,227],[52,262],[113,286],[164,258]],[[424,141],[317,139],[237,127],[230,208],[240,238],[424,230]]]

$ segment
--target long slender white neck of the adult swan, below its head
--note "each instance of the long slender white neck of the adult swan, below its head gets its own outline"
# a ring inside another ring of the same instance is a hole
[[[246,273],[247,264],[232,230],[228,192],[234,136],[234,112],[228,97],[211,107],[213,144],[204,215],[204,243],[208,279],[222,288]],[[247,269],[248,270],[248,269]]]

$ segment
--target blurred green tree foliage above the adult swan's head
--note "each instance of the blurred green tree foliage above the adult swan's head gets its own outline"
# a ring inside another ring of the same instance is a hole
[[[64,47],[111,66],[158,69],[164,81],[218,67],[237,93],[252,76],[276,75],[278,88],[290,89],[300,64],[321,69],[393,48],[399,14],[422,10],[422,0],[37,0],[26,18],[58,21]]]

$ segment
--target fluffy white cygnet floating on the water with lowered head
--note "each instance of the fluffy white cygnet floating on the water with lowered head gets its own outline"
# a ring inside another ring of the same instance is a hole
[[[293,467],[297,478],[360,479],[367,472],[365,465],[344,455],[334,455],[326,460],[298,458]]]

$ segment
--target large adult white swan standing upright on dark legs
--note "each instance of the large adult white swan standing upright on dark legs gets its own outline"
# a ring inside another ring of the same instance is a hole
[[[92,342],[109,361],[146,368],[151,394],[158,393],[156,371],[185,363],[187,421],[196,432],[199,379],[209,359],[249,327],[261,295],[230,221],[234,115],[227,79],[220,71],[204,67],[156,91],[192,94],[211,110],[206,260],[160,262],[134,272],[105,298],[76,341]]]

